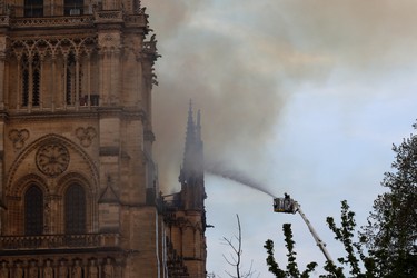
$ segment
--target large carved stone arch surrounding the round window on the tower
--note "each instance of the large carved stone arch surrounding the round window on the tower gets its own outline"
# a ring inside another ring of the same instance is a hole
[[[89,185],[92,187],[91,192],[98,191],[98,188],[99,188],[98,169],[97,169],[96,165],[93,163],[92,159],[90,158],[90,156],[88,153],[86,153],[86,151],[81,147],[79,147],[77,143],[72,142],[71,140],[69,140],[66,137],[54,135],[54,133],[50,133],[50,135],[43,136],[43,137],[34,140],[33,142],[28,145],[28,147],[24,148],[21,151],[20,156],[14,160],[14,162],[10,167],[8,179],[6,181],[6,191],[8,191],[12,188],[12,185],[13,185],[16,179],[20,178],[20,177],[16,177],[16,176],[17,176],[17,172],[19,170],[22,171],[22,169],[20,169],[20,168],[22,167],[23,162],[28,158],[34,159],[34,153],[39,150],[39,148],[42,147],[42,146],[47,146],[48,143],[62,145],[63,147],[66,147],[69,150],[71,157],[77,157],[77,158],[79,158],[79,160],[85,162],[86,169],[82,169],[82,171],[85,172],[83,177],[89,177],[89,179],[88,179]],[[75,167],[71,165],[71,161],[69,161],[69,166],[67,168],[68,171],[66,170],[60,175],[48,177],[47,175],[42,173],[39,169],[34,169],[36,168],[34,161],[30,161],[30,162],[33,165],[31,170],[37,171],[39,176],[46,177],[46,178],[60,179],[69,172],[75,172],[75,170],[73,170]]]

